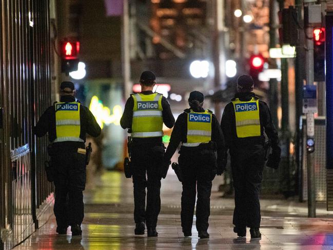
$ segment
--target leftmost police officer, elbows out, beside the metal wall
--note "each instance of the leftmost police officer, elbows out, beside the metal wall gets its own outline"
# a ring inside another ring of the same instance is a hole
[[[75,100],[72,82],[62,82],[61,99],[41,116],[33,132],[48,133],[49,153],[54,167],[54,215],[58,234],[81,235],[84,217],[83,193],[86,185],[86,133],[97,137],[101,127],[90,110]]]

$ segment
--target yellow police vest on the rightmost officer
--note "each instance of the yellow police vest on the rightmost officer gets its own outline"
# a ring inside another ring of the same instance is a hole
[[[238,98],[231,101],[236,117],[236,132],[238,138],[261,136],[259,100],[252,98],[242,102]]]

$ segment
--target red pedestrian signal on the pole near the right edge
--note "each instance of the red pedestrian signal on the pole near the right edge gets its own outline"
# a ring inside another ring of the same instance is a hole
[[[325,81],[325,28],[314,29],[315,82]]]

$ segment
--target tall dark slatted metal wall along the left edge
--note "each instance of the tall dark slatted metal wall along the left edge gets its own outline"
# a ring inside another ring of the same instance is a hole
[[[49,0],[1,0],[0,14],[0,249],[9,249],[38,226],[52,192],[47,139],[31,132],[51,104]]]

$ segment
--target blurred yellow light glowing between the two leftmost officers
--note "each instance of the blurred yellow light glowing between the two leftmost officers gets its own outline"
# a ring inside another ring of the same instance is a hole
[[[96,118],[97,123],[101,128],[105,125],[113,123],[116,126],[120,125],[123,109],[120,105],[115,105],[112,108],[112,114],[108,107],[105,107],[101,100],[96,95],[91,98],[89,109]]]

